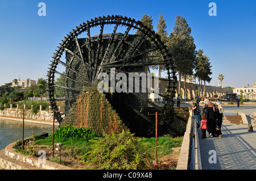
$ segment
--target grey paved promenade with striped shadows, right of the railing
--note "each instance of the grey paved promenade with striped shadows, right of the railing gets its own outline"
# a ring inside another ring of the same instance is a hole
[[[243,105],[238,108],[236,105],[225,105],[224,111],[224,115],[243,112],[251,116],[253,112],[256,112],[256,106]],[[253,129],[254,132],[248,132],[248,125],[223,123],[222,138],[209,137],[207,133],[206,139],[201,139],[199,129],[203,170],[256,170],[256,127],[254,124]]]

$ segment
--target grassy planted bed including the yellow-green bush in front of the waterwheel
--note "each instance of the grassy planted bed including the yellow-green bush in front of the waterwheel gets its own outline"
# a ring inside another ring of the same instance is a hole
[[[168,158],[173,148],[180,147],[182,141],[183,137],[158,137],[158,158]],[[85,165],[86,169],[149,169],[155,158],[155,137],[135,137],[130,132],[89,138],[55,137],[54,142],[63,144],[61,154],[64,153],[67,158],[61,156],[60,164],[65,166],[69,166],[68,162],[71,159],[74,162],[75,159],[76,163]],[[20,142],[18,145],[21,145]],[[50,154],[52,136],[35,136],[35,145],[37,150],[46,149]],[[48,159],[59,163],[58,157]]]

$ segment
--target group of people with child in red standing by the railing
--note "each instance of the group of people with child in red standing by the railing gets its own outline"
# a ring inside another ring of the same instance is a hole
[[[213,104],[209,102],[207,98],[204,98],[203,113],[199,108],[199,101],[193,103],[192,110],[196,118],[197,128],[201,129],[202,137],[206,138],[206,131],[208,131],[209,136],[211,137],[222,137],[221,125],[222,125],[222,116],[223,108],[220,102],[220,99],[217,99],[217,102]]]

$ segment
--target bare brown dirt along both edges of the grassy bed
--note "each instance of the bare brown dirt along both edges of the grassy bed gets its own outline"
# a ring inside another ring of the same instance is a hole
[[[152,170],[170,170],[170,169],[176,169],[177,161],[179,160],[179,154],[181,147],[172,148],[174,151],[172,151],[171,154],[164,155],[161,158],[158,158],[158,165],[152,164]],[[52,149],[49,145],[36,145],[36,153],[38,153],[39,150],[46,151],[46,159],[51,161],[51,153]],[[84,170],[84,165],[79,163],[79,159],[73,158],[68,154],[67,149],[61,149],[61,152],[54,150],[54,159],[55,162],[59,161],[59,157],[61,154],[61,164],[72,167],[73,169],[77,170]]]

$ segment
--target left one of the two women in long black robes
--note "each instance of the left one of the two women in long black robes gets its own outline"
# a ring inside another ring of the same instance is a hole
[[[212,102],[209,102],[208,107],[205,110],[205,116],[207,117],[207,130],[209,132],[209,136],[216,137],[217,116]]]

